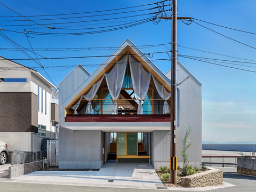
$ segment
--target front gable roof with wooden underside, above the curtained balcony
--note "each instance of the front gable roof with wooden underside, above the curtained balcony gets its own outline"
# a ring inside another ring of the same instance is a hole
[[[77,99],[80,99],[82,95],[90,90],[93,84],[97,83],[105,73],[109,73],[113,65],[121,60],[124,55],[129,51],[129,54],[133,57],[134,60],[141,62],[143,68],[147,70],[148,73],[151,73],[159,83],[165,86],[165,89],[171,92],[171,81],[168,79],[164,73],[150,61],[149,58],[143,54],[137,46],[135,46],[130,39],[127,39],[118,49],[106,59],[102,65],[96,69],[93,74],[86,79],[86,81],[74,91],[70,97],[64,101],[62,104],[63,107],[69,109]]]

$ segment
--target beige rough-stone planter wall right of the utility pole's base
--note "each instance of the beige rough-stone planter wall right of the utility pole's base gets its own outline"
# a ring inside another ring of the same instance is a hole
[[[223,185],[223,170],[213,169],[181,178],[184,187],[206,187]]]

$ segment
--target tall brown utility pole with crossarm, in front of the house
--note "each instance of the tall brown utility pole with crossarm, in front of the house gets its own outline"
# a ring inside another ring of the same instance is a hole
[[[177,183],[177,20],[189,19],[177,17],[177,0],[172,0],[172,17],[159,17],[172,20],[172,58],[171,58],[171,148],[170,182]]]

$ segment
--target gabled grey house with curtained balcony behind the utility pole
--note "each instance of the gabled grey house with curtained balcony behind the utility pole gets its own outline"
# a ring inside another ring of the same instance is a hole
[[[202,85],[178,62],[178,165],[183,125],[193,127],[190,164],[202,157]],[[90,74],[78,65],[59,84],[59,167],[108,162],[170,166],[170,71],[164,74],[127,39]]]

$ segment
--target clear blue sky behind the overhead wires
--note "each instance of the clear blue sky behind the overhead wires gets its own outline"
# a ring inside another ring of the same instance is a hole
[[[131,7],[137,5],[145,5],[148,3],[155,3],[157,1],[2,1],[3,4],[10,7],[14,11],[22,15],[46,15],[46,14],[63,14],[63,13],[78,13],[89,11],[100,11],[118,9],[121,7]],[[165,2],[169,4],[171,1]],[[17,16],[14,12],[10,11],[3,5],[1,6],[0,16]],[[221,26],[235,28],[239,30],[249,31],[256,33],[255,30],[255,1],[179,1],[178,0],[178,17],[193,17],[199,20],[216,23]],[[153,6],[145,6],[129,9],[140,10]],[[167,7],[166,7],[167,8]],[[170,6],[169,8],[170,9]],[[116,11],[122,12],[124,10]],[[114,13],[110,12],[96,12],[93,14],[105,14]],[[129,13],[129,14],[117,14],[117,17],[123,15],[135,15],[148,13],[147,11]],[[170,13],[170,12],[169,12]],[[88,15],[93,15],[88,14]],[[112,16],[112,17],[116,17]],[[63,16],[64,17],[64,16]],[[69,17],[66,15],[65,17]],[[74,17],[74,15],[72,15]],[[115,21],[128,21],[136,19],[145,19],[147,16],[132,17],[126,19],[120,19]],[[51,18],[51,17],[49,17]],[[53,18],[53,17],[52,17]],[[64,20],[69,21],[82,21],[82,20],[95,20],[95,19],[107,19],[108,16],[101,17],[89,17],[82,19]],[[9,29],[14,31],[23,32],[26,28],[30,31],[40,31],[45,33],[66,33],[66,30],[55,29],[41,29],[41,26],[4,26],[12,25],[18,22],[4,22],[4,20],[12,20],[20,18],[0,18],[2,29]],[[31,18],[30,18],[31,19]],[[35,19],[35,18],[33,18]],[[38,18],[37,18],[38,19]],[[62,21],[62,20],[61,20]],[[113,22],[114,20],[106,20],[101,22]],[[226,35],[236,41],[244,44],[256,47],[256,36],[253,34],[242,33],[239,31],[226,29],[214,25],[210,25],[198,20],[197,23],[217,31],[220,34]],[[60,22],[60,20],[52,21],[38,21],[38,23],[54,23]],[[30,21],[19,22],[19,24],[32,23]],[[100,23],[97,22],[83,22],[69,25],[87,25],[79,27],[95,27],[99,25],[88,24]],[[122,23],[122,22],[119,22]],[[108,23],[108,25],[118,25],[119,23]],[[105,24],[107,25],[107,24]],[[53,27],[58,25],[53,25]],[[60,26],[60,25],[59,25]],[[65,25],[62,25],[65,26]],[[77,26],[78,27],[78,26]],[[39,29],[31,29],[39,28]],[[205,29],[196,23],[191,25],[185,25],[182,21],[178,21],[178,51],[181,55],[189,55],[194,57],[213,58],[220,60],[233,60],[256,63],[256,49],[239,44],[231,39],[220,36],[212,31]],[[55,30],[55,31],[54,31]],[[77,30],[81,32],[81,30]],[[12,33],[10,31],[2,31],[12,41],[18,43],[26,48],[30,48],[28,40],[25,34]],[[74,30],[68,30],[69,33],[73,33]],[[28,33],[28,36],[33,36]],[[144,23],[142,25],[134,26],[131,28],[110,31],[106,33],[78,35],[78,36],[40,36],[35,35],[34,38],[29,38],[29,42],[33,48],[72,48],[72,47],[118,47],[127,38],[129,38],[135,45],[154,45],[165,44],[171,42],[171,21],[162,20],[158,25],[154,25],[152,22]],[[13,48],[13,46],[7,42],[3,37],[0,38],[2,48]],[[231,57],[224,57],[221,55],[206,53],[202,51],[196,51],[192,49],[218,53],[223,55],[229,55]],[[171,49],[170,45],[156,46],[151,48],[141,49],[144,53],[163,52]],[[46,58],[55,57],[79,57],[89,55],[110,55],[115,49],[107,49],[100,51],[83,50],[83,51],[40,51],[36,52],[43,55]],[[29,53],[31,57],[35,58],[33,53]],[[0,50],[0,55],[7,59],[11,58],[27,58],[19,51],[6,51]],[[167,59],[169,58],[166,53],[155,53],[154,59]],[[243,58],[247,60],[237,59]],[[80,58],[80,59],[56,59],[56,60],[42,60],[43,66],[66,66],[66,65],[82,65],[88,64],[100,64],[107,58]],[[213,142],[237,142],[237,141],[252,141],[256,143],[256,73],[249,71],[237,70],[227,67],[221,67],[205,63],[201,61],[191,60],[187,58],[179,57],[178,60],[198,79],[203,85],[203,141]],[[253,60],[253,61],[249,61]],[[18,60],[17,62],[22,65],[33,67],[38,66],[34,61]],[[228,62],[228,61],[222,61]],[[170,61],[155,61],[155,65],[166,73],[170,67]],[[229,63],[229,62],[228,62]],[[255,64],[252,63],[236,63],[239,65],[247,65],[252,67],[244,67],[237,65],[228,65],[227,63],[219,63],[220,65],[226,65],[230,67],[243,68],[246,70],[256,71]],[[90,73],[97,67],[85,67]],[[61,68],[58,68],[61,69]],[[55,84],[59,84],[63,78],[65,78],[71,70],[54,70],[46,69],[46,72],[51,77]],[[37,69],[38,70],[38,69]],[[43,70],[38,70],[47,79],[47,75]],[[189,124],[189,123],[188,123]]]

